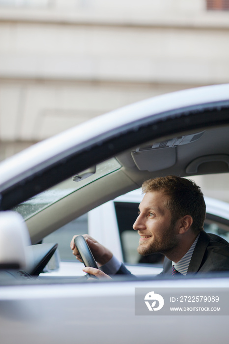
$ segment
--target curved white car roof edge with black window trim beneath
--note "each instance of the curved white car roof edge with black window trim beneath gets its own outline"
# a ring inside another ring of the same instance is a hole
[[[196,128],[198,132],[203,125],[223,123],[228,118],[228,95],[228,84],[161,95],[94,118],[29,147],[0,164],[1,209],[8,209],[91,163],[118,155],[133,145],[172,131]],[[121,157],[120,161],[123,162]],[[59,172],[55,173],[57,169]],[[16,189],[18,192],[12,198],[11,192]]]

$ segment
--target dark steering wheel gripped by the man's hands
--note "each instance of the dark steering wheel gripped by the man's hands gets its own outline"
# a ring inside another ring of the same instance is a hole
[[[85,266],[94,267],[98,269],[98,265],[96,264],[95,258],[93,257],[89,246],[83,235],[77,235],[74,239],[74,243],[76,248],[80,254],[80,258],[83,260]],[[89,277],[97,278],[94,275],[87,274]]]

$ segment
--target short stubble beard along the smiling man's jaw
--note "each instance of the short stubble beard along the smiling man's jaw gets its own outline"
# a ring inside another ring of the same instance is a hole
[[[148,256],[153,253],[167,254],[174,250],[178,245],[174,225],[170,225],[163,233],[156,237],[152,242],[140,244],[137,248],[141,256]]]

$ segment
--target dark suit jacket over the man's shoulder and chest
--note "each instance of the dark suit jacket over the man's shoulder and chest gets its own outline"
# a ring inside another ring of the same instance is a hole
[[[162,274],[171,274],[172,261],[165,257]],[[188,274],[229,271],[229,243],[216,234],[200,232]]]

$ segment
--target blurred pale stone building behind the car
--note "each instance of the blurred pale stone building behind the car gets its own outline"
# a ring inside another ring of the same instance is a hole
[[[0,0],[0,160],[118,107],[228,83],[228,9],[228,0]]]

